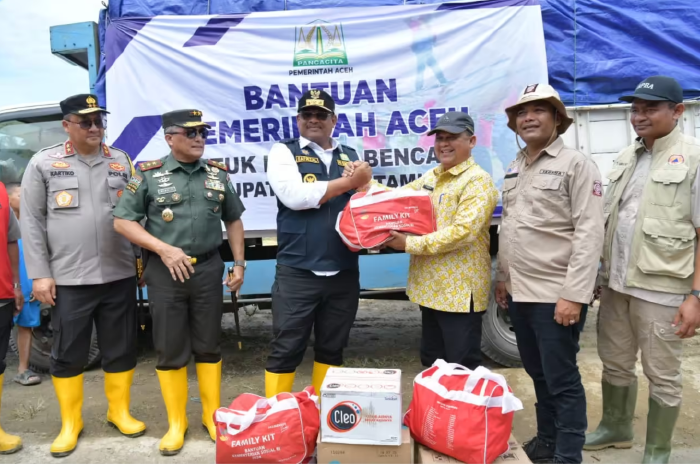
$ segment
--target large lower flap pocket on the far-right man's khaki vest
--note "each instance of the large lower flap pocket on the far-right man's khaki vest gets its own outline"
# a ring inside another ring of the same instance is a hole
[[[644,218],[637,266],[644,274],[686,279],[695,271],[695,228],[689,222]]]

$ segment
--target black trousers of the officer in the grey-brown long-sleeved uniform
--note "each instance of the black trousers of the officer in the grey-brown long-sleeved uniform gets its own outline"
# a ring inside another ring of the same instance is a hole
[[[88,362],[93,324],[105,372],[136,367],[136,277],[99,285],[57,285],[51,308],[51,375],[75,377]]]

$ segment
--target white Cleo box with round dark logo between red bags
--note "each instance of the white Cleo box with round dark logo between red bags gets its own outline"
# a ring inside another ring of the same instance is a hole
[[[320,398],[322,443],[401,446],[401,371],[329,369]]]

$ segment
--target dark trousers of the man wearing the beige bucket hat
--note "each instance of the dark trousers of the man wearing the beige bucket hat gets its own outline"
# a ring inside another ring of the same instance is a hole
[[[554,320],[554,303],[516,303],[508,297],[508,313],[515,330],[525,372],[535,384],[537,437],[554,445],[561,462],[580,463],[585,442],[586,392],[576,364],[580,322],[564,327]]]

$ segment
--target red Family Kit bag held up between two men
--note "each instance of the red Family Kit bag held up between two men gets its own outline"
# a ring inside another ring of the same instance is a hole
[[[338,214],[335,230],[352,251],[375,248],[390,231],[426,235],[435,232],[433,202],[427,190],[372,188],[350,198]]]

